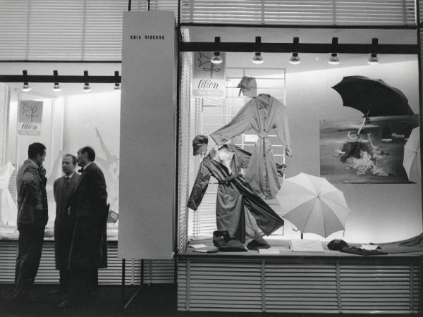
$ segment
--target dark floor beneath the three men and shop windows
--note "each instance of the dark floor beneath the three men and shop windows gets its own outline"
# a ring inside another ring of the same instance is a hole
[[[125,296],[119,286],[99,287],[98,298],[89,306],[60,309],[59,294],[51,294],[56,285],[35,285],[33,297],[39,302],[33,308],[13,306],[11,300],[11,285],[0,285],[0,316],[141,316],[141,317],[297,317],[297,316],[338,316],[336,314],[302,314],[302,313],[221,313],[221,312],[183,312],[176,311],[176,287],[174,285],[146,285],[143,287],[125,312],[122,311],[123,298],[125,302],[135,293],[137,287],[126,287]],[[348,314],[345,316],[362,316]],[[377,315],[399,316],[399,315]],[[407,315],[419,316],[419,315]]]

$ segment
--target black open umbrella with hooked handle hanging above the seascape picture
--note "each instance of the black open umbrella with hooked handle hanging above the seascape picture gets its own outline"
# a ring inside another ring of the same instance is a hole
[[[358,130],[357,137],[370,117],[414,114],[405,94],[380,79],[345,76],[332,88],[341,95],[343,106],[355,108],[364,114],[364,121]],[[350,137],[349,134],[348,137]],[[357,137],[350,137],[350,139],[357,139]]]

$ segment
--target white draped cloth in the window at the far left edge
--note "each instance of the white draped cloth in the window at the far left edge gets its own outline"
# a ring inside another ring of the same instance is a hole
[[[15,168],[9,161],[0,168],[0,225],[16,225],[18,209],[8,190],[9,181]]]

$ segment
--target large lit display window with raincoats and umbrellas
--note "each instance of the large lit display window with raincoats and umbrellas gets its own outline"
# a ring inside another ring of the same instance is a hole
[[[204,29],[186,42],[209,39]],[[415,43],[407,30],[213,31],[222,42]],[[243,247],[381,244],[422,232],[417,55],[184,51],[181,65],[190,244],[213,248],[225,234]]]

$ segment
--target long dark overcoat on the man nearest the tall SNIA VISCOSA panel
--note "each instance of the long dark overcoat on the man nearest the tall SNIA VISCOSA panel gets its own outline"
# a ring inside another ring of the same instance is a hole
[[[96,163],[85,167],[69,199],[75,218],[68,268],[107,267],[107,192],[102,170]]]

